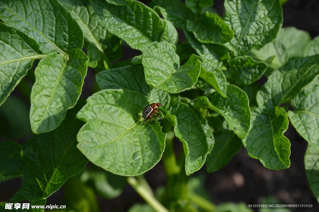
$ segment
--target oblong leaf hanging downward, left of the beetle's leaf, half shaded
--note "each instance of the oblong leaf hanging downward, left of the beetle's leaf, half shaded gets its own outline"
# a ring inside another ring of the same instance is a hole
[[[31,92],[30,121],[34,133],[54,130],[80,97],[87,71],[87,57],[79,49],[69,59],[49,54],[35,69],[36,81]]]

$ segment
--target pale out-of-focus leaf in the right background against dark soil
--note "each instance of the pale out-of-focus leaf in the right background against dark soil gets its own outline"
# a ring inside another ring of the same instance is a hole
[[[275,55],[270,65],[270,68],[275,70],[285,65],[291,58],[303,57],[310,40],[310,35],[306,31],[298,30],[295,27],[282,27],[276,40],[266,44],[258,51],[252,49],[248,54],[258,61],[264,61]]]

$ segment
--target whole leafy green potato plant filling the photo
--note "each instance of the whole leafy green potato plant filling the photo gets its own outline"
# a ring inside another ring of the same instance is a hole
[[[66,196],[89,192],[91,179],[108,181],[111,191],[95,185],[105,198],[127,181],[147,203],[131,212],[239,211],[244,204],[194,193],[188,176],[204,163],[219,170],[242,145],[266,168],[289,168],[289,121],[309,142],[305,167],[319,198],[319,38],[281,28],[279,0],[225,0],[223,18],[212,0],[185,2],[0,0],[0,104],[32,83],[31,139],[0,143],[0,182],[22,178],[12,202],[44,205],[62,186]],[[141,54],[120,60],[121,45]],[[88,67],[95,85],[82,101]],[[160,100],[164,119],[145,122],[145,106]],[[160,160],[167,185],[155,198],[143,174]],[[94,170],[84,169],[89,161]],[[86,211],[99,211],[94,204]]]

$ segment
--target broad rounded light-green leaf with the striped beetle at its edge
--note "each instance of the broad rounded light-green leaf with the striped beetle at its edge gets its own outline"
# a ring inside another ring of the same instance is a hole
[[[78,148],[95,165],[118,175],[138,175],[161,159],[166,134],[158,122],[143,122],[149,103],[129,90],[102,90],[87,99],[77,118],[87,122]]]

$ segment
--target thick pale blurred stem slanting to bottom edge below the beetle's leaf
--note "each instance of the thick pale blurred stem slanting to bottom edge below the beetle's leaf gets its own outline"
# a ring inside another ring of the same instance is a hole
[[[161,203],[159,203],[148,189],[144,188],[135,177],[128,177],[127,182],[134,190],[157,212],[169,212]]]

